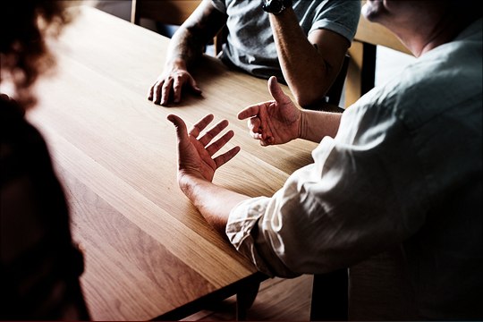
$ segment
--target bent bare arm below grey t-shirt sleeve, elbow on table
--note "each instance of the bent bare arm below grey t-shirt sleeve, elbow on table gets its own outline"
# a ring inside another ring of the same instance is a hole
[[[315,30],[307,38],[292,8],[269,14],[269,19],[282,72],[297,103],[319,103],[341,70],[349,40],[330,30]]]

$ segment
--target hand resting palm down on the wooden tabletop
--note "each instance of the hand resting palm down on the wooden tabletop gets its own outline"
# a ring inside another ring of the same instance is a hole
[[[170,98],[177,104],[181,101],[182,89],[188,87],[195,94],[201,94],[196,81],[186,69],[174,66],[163,72],[151,86],[148,99],[154,104],[167,106]]]

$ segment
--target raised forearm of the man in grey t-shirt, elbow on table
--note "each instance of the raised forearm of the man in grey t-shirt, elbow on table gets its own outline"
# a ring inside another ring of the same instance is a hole
[[[269,17],[282,72],[297,103],[320,101],[331,83],[323,56],[310,44],[292,9]]]

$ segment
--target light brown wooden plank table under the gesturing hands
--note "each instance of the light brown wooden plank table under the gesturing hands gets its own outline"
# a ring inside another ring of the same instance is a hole
[[[250,261],[179,190],[166,115],[179,114],[189,125],[208,113],[228,119],[235,131],[230,146],[242,151],[215,182],[253,197],[272,195],[311,163],[315,144],[261,148],[236,113],[270,99],[267,81],[213,57],[194,71],[202,97],[153,105],[147,92],[169,39],[94,8],[76,15],[55,46],[56,72],[39,81],[38,106],[28,117],[45,135],[64,182],[73,237],[85,252],[81,284],[91,317],[182,318],[258,283]]]

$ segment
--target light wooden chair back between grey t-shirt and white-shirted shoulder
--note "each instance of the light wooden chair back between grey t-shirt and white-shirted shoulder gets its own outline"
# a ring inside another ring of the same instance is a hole
[[[351,59],[345,82],[345,106],[351,106],[374,87],[377,46],[411,55],[411,52],[386,27],[369,22],[360,16],[357,33],[349,48]]]

